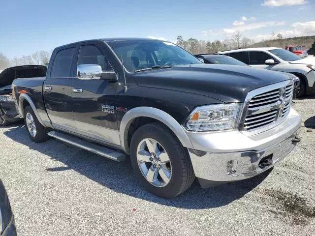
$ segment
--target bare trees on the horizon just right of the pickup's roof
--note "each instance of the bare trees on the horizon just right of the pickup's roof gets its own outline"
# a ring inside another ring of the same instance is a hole
[[[240,31],[233,33],[232,38],[215,40],[213,42],[195,38],[184,40],[182,36],[178,36],[176,40],[178,46],[189,51],[191,54],[216,53],[224,50],[248,48],[253,43],[254,41],[252,39],[243,37]]]

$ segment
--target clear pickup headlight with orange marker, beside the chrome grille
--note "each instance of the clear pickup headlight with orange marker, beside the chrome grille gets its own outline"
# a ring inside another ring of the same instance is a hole
[[[235,129],[240,103],[216,104],[195,108],[185,121],[191,131]]]

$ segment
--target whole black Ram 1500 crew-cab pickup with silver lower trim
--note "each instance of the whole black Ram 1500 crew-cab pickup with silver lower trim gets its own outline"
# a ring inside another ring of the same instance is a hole
[[[58,47],[46,77],[16,79],[34,142],[49,137],[112,160],[129,155],[164,198],[258,175],[300,141],[293,81],[248,66],[204,64],[175,44],[112,38]]]

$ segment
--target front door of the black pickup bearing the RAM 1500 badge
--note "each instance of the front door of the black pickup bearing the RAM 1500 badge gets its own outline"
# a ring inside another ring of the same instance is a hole
[[[77,65],[98,64],[102,71],[113,71],[108,52],[101,43],[82,43]],[[73,115],[80,135],[120,146],[115,93],[118,83],[105,80],[72,80]]]

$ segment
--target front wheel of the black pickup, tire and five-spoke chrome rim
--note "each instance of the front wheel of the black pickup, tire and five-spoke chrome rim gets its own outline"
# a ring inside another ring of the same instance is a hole
[[[158,147],[155,154],[150,153],[148,141],[151,150]],[[157,146],[154,145],[155,141],[158,143]],[[140,152],[143,155],[138,154]],[[147,191],[159,197],[169,199],[180,195],[190,187],[195,178],[188,150],[163,124],[149,123],[138,128],[131,139],[130,156],[135,176]],[[169,162],[166,161],[167,157]],[[148,175],[149,171],[158,174]],[[153,176],[154,181],[149,182],[145,175]]]

